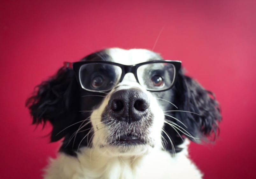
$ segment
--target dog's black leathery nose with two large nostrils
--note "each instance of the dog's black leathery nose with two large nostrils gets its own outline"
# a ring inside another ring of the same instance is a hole
[[[147,114],[149,100],[139,89],[119,90],[111,95],[108,106],[114,119],[131,123]]]

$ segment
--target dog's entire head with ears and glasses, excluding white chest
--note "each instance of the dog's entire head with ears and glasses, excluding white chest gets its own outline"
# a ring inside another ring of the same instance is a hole
[[[75,155],[94,147],[113,155],[153,148],[180,151],[218,131],[213,94],[180,70],[180,61],[143,50],[106,49],[66,63],[27,100],[33,123],[53,126],[51,141]]]

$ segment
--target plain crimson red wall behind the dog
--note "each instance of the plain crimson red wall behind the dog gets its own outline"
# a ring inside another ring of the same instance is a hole
[[[41,178],[58,143],[31,125],[25,100],[65,60],[106,47],[182,60],[212,90],[223,122],[215,144],[192,144],[205,178],[255,176],[255,1],[1,1],[1,178]],[[255,177],[254,177],[255,178]]]

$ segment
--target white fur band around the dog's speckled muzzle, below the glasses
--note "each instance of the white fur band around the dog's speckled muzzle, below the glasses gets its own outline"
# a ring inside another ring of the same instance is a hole
[[[127,74],[129,75],[129,74]],[[136,81],[136,80],[135,80]],[[128,85],[128,86],[127,86]],[[124,80],[122,83],[118,85],[119,87],[117,90],[121,89],[129,89],[129,88],[140,88],[144,93],[147,94],[147,96],[150,99],[150,110],[154,114],[154,120],[153,120],[153,125],[149,129],[150,131],[150,138],[154,141],[155,148],[161,149],[162,144],[161,144],[161,128],[164,124],[164,113],[161,110],[161,108],[158,105],[157,100],[145,89],[143,89],[138,83],[132,81],[132,78],[130,76],[125,76]],[[145,146],[145,145],[139,145],[137,148],[130,148],[126,153],[120,153],[118,150],[120,148],[108,146],[106,142],[106,137],[108,137],[108,130],[107,127],[103,122],[101,122],[101,114],[103,110],[105,109],[106,105],[109,102],[109,98],[111,96],[112,92],[110,92],[106,98],[103,100],[102,104],[98,109],[95,109],[92,114],[91,114],[91,122],[92,126],[94,127],[94,138],[93,138],[93,146],[95,148],[98,148],[98,150],[105,150],[104,148],[100,148],[100,146],[104,145],[105,147],[108,147],[108,153],[109,155],[127,155],[127,152],[130,154],[138,154],[138,153],[144,153],[148,150],[148,148],[151,148],[150,146]],[[103,152],[103,151],[102,151]]]

